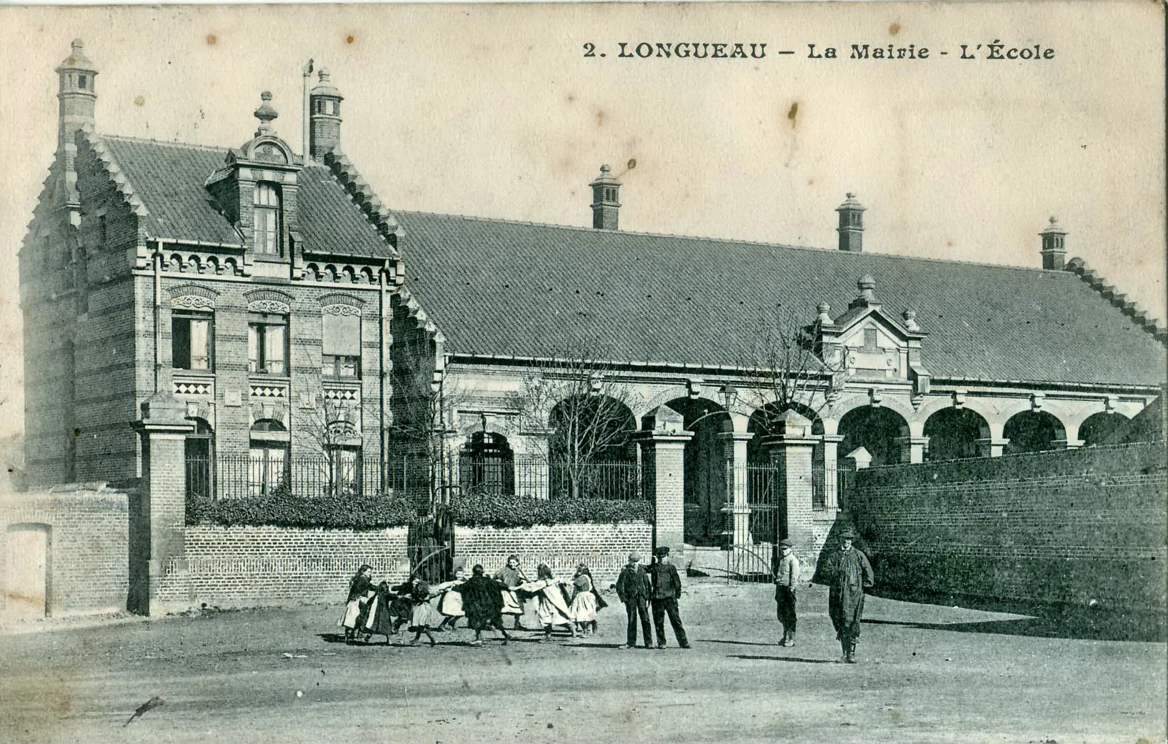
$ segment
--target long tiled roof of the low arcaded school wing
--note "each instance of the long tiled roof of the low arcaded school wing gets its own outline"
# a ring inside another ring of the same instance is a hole
[[[410,290],[454,353],[741,364],[776,304],[841,315],[864,273],[917,311],[936,377],[1157,384],[1164,347],[1069,271],[395,211]]]

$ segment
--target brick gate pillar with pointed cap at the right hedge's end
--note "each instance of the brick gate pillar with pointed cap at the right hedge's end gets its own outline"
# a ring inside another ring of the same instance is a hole
[[[645,495],[653,501],[653,548],[668,545],[673,555],[686,555],[686,419],[660,405],[642,419],[637,439],[641,445]]]

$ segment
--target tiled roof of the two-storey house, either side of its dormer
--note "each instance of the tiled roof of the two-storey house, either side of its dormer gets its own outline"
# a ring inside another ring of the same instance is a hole
[[[223,167],[225,148],[103,135],[118,167],[146,206],[151,237],[242,243],[204,188]],[[298,228],[308,250],[342,256],[390,257],[392,249],[349,200],[324,166],[308,166],[298,178]]]

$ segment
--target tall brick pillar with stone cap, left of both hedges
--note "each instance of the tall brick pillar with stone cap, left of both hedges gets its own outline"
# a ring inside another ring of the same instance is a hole
[[[190,606],[187,584],[186,440],[194,424],[181,403],[157,392],[134,422],[141,434],[142,478],[131,508],[130,610],[161,614]]]

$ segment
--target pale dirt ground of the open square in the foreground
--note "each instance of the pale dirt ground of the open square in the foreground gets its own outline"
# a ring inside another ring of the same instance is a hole
[[[690,579],[688,651],[672,633],[663,651],[618,648],[616,598],[595,638],[507,647],[470,647],[468,631],[346,646],[340,603],[46,621],[0,635],[0,742],[1166,739],[1157,634],[869,597],[860,662],[843,665],[823,587],[800,589],[794,648],[776,645],[772,596]]]

